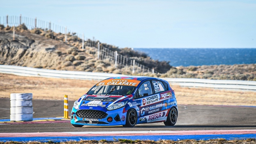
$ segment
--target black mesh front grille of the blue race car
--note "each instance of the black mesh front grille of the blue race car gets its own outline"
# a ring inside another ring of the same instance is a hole
[[[100,110],[78,110],[76,112],[76,115],[79,117],[84,117],[84,118],[105,118],[108,116],[107,113],[100,111]]]

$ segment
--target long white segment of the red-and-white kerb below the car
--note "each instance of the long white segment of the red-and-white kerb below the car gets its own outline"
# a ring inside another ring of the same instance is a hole
[[[113,134],[113,133],[180,133],[173,131],[119,131],[119,132],[64,132],[69,134]]]

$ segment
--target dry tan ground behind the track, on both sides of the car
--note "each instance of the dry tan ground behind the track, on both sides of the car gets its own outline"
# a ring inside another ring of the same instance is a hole
[[[99,81],[58,79],[0,74],[0,98],[11,93],[33,93],[33,99],[77,100]],[[173,85],[178,104],[256,106],[256,92],[211,88],[186,88]]]

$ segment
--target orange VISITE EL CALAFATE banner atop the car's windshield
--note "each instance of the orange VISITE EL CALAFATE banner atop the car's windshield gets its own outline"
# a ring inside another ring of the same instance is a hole
[[[130,85],[130,86],[138,86],[140,81],[133,80],[133,79],[107,79],[103,80],[100,83],[96,84],[96,86],[99,85]]]

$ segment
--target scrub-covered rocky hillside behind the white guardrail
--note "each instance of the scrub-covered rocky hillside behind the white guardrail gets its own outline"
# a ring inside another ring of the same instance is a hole
[[[80,39],[74,34],[68,34],[68,42],[64,43],[65,36],[43,29],[28,30],[25,25],[16,27],[15,39],[12,38],[12,28],[0,25],[0,64],[16,65],[33,68],[47,68],[57,70],[74,70],[89,72],[132,74],[132,67],[115,68],[109,59],[97,60],[95,48],[86,46],[82,50]],[[145,53],[133,51],[131,48],[101,44],[110,50],[118,51],[140,64],[149,68],[156,68],[161,73],[145,73],[145,76],[172,77],[172,78],[204,78],[256,81],[256,64],[242,65],[213,65],[172,67],[166,61],[152,60]],[[136,68],[136,67],[135,67]]]

